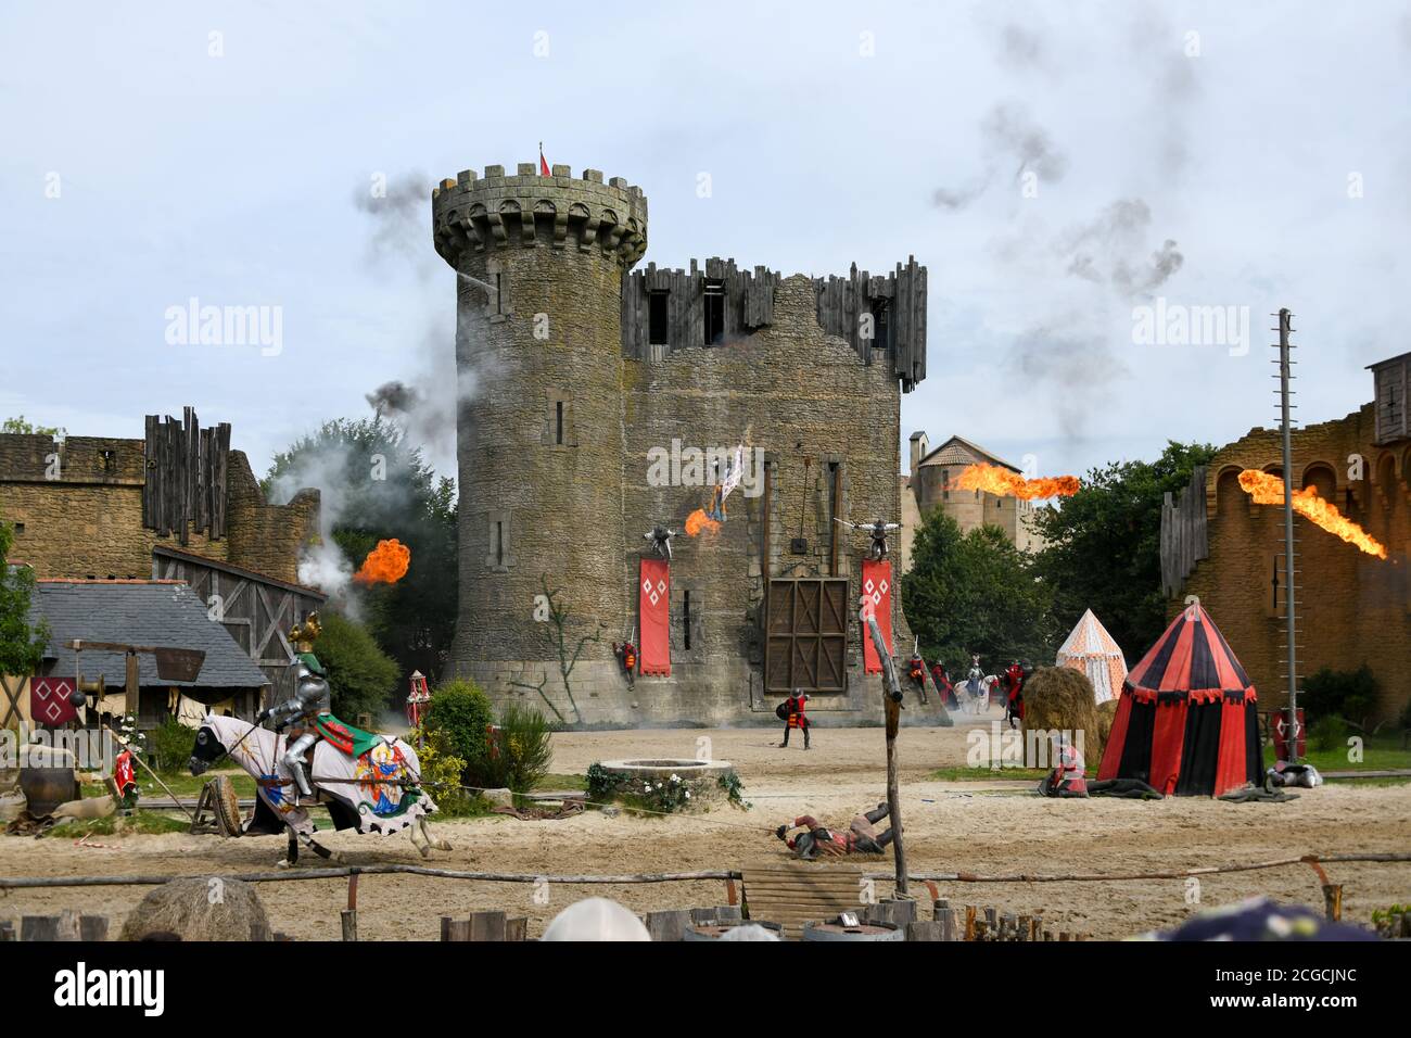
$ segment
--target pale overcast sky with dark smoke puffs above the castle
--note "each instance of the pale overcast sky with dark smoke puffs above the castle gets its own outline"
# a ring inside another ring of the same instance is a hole
[[[540,140],[643,188],[658,266],[914,254],[903,439],[1043,475],[1270,424],[1278,306],[1305,421],[1411,349],[1405,4],[508,7],[7,3],[0,417],[135,438],[195,404],[262,475],[382,383],[449,386],[423,192]],[[168,342],[193,297],[281,308],[278,354]],[[1252,349],[1136,342],[1158,299],[1249,308]]]

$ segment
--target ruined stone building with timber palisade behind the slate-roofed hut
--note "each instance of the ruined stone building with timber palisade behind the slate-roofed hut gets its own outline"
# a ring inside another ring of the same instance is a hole
[[[188,408],[182,421],[148,415],[144,439],[0,435],[0,520],[16,531],[10,562],[41,582],[182,582],[247,671],[262,672],[241,678],[236,709],[253,715],[261,689],[267,698],[292,692],[285,633],[325,602],[298,583],[299,551],[319,530],[319,491],[270,504],[246,455],[230,449],[229,425],[203,429]],[[128,613],[150,600],[150,592],[93,587],[71,599],[120,600]],[[82,610],[71,613],[69,620]],[[87,633],[73,637],[97,638],[102,621],[95,616]],[[56,674],[54,665],[45,674]],[[0,685],[13,699],[24,678],[0,675]]]

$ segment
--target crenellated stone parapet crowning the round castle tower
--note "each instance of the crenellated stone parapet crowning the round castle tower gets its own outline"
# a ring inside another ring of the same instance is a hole
[[[452,267],[470,254],[502,249],[600,251],[631,267],[646,251],[646,196],[621,177],[598,169],[573,177],[556,165],[542,177],[521,162],[512,177],[501,165],[485,175],[463,169],[432,188],[432,239]]]

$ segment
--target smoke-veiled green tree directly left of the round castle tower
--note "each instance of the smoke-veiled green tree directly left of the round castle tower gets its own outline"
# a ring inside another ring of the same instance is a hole
[[[435,682],[456,630],[454,482],[436,479],[395,422],[339,418],[275,455],[261,486],[274,500],[319,487],[332,539],[354,569],[381,539],[411,548],[406,576],[358,589],[361,616],[404,678],[420,671]]]

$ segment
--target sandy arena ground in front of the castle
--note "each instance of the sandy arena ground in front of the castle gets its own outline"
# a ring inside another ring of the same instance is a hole
[[[998,715],[996,715],[998,716]],[[1288,804],[1223,804],[1209,799],[1053,801],[1024,795],[1030,782],[940,782],[935,768],[965,764],[967,732],[903,729],[902,809],[910,871],[978,874],[1125,873],[1178,870],[1257,861],[1305,853],[1405,852],[1411,847],[1411,785],[1328,784],[1302,791]],[[979,722],[988,729],[988,719]],[[553,771],[583,772],[600,760],[694,757],[700,737],[711,754],[735,764],[751,811],[715,808],[706,815],[642,818],[587,812],[566,821],[519,822],[487,818],[446,822],[436,829],[453,845],[428,864],[446,869],[535,874],[621,874],[741,869],[787,860],[773,837],[780,822],[809,813],[845,826],[885,798],[882,729],[814,729],[813,748],[777,746],[770,729],[666,729],[567,733],[555,736]],[[728,823],[728,825],[725,825]],[[385,839],[325,835],[346,863],[420,864],[405,835]],[[171,873],[209,876],[267,871],[282,857],[284,837],[104,836],[109,847],[75,846],[72,839],[0,837],[3,876],[95,876]],[[890,859],[854,859],[878,871]],[[317,867],[312,854],[301,867]],[[827,869],[828,863],[817,867]],[[1411,901],[1411,866],[1329,866],[1345,885],[1345,915],[1366,921],[1374,908]],[[1168,926],[1197,907],[1187,904],[1184,880],[1046,884],[940,884],[952,904],[995,905],[1002,911],[1043,909],[1054,929],[1120,938]],[[75,908],[121,917],[148,887],[54,888],[0,893],[0,918]],[[502,908],[529,917],[538,935],[553,915],[587,895],[617,898],[636,911],[724,904],[724,883],[642,885],[552,885],[547,905],[536,905],[528,884],[490,884],[415,876],[360,880],[358,931],[363,939],[436,939],[442,915],[464,917]],[[879,895],[889,884],[878,884]],[[928,894],[913,884],[928,914]],[[337,939],[346,881],[262,884],[260,894],[275,929],[301,939]],[[1202,877],[1201,904],[1229,904],[1266,894],[1322,908],[1316,877],[1307,866]]]

